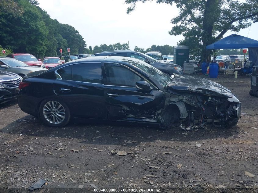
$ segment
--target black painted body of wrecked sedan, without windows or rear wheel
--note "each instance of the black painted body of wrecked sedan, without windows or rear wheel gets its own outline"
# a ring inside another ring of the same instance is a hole
[[[172,75],[174,76],[173,81],[163,87],[149,74],[133,66],[129,62],[130,60],[132,59],[115,56],[90,57],[56,66],[41,74],[38,73],[38,75],[35,72],[34,76],[24,78],[24,82],[29,82],[31,85],[20,90],[18,105],[25,113],[37,117],[40,103],[44,99],[51,98],[64,101],[73,118],[158,123],[173,126],[174,124],[178,125],[178,121],[188,124],[192,113],[193,120],[191,121],[194,121],[192,126],[198,124],[200,120],[198,116],[203,116],[207,125],[208,123],[218,123],[220,126],[227,126],[229,119],[231,120],[228,125],[238,122],[241,103],[220,84],[186,75]],[[102,64],[103,84],[53,78],[55,70],[82,62]],[[106,85],[104,63],[116,63],[129,67],[144,77],[152,89],[141,90],[136,87]],[[71,92],[62,91],[61,88],[70,89]],[[211,116],[207,109],[210,109],[212,113],[215,112],[216,115]],[[173,117],[180,120],[173,120]],[[204,124],[202,121],[201,123]]]

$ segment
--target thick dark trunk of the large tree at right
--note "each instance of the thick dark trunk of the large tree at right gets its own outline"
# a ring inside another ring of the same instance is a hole
[[[207,50],[206,58],[206,46],[213,42],[213,24],[217,21],[218,13],[218,0],[207,0],[205,4],[205,10],[203,15],[203,27],[202,27],[202,60],[209,61],[209,55],[211,50]]]

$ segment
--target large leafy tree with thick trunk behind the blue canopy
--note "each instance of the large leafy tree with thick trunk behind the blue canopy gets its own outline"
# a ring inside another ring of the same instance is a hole
[[[152,0],[150,0],[152,1]],[[136,2],[146,0],[125,0],[131,4],[129,14],[136,7]],[[175,26],[170,35],[184,36],[178,45],[188,45],[190,49],[202,52],[205,58],[205,47],[223,37],[228,31],[239,32],[258,22],[258,3],[253,0],[238,2],[235,0],[156,0],[157,3],[176,5],[180,9],[178,16],[171,20]],[[237,22],[237,24],[236,24]],[[209,55],[209,50],[207,55]]]

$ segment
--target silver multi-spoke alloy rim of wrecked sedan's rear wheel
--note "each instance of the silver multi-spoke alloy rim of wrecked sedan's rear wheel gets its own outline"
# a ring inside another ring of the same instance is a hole
[[[49,123],[60,124],[65,119],[65,110],[59,102],[49,101],[43,107],[43,115]]]

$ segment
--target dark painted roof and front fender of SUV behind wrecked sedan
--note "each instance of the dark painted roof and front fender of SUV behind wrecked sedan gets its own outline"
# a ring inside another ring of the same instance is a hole
[[[95,56],[108,56],[108,55],[116,55],[116,54],[123,54],[124,57],[130,57],[130,54],[137,54],[143,58],[145,58],[144,55],[142,55],[142,53],[140,52],[133,52],[133,51],[114,51],[114,52],[101,52],[101,53],[97,53],[97,54],[94,54]],[[155,62],[155,60],[150,59],[148,58],[148,60],[150,60],[150,64],[152,66],[154,66],[155,68],[157,68],[158,70],[166,73],[166,74],[169,74],[169,75],[172,75],[173,73],[176,73],[176,74],[184,74],[184,72],[179,72],[177,71],[174,67],[180,67],[179,65],[177,64],[173,64],[173,63],[165,63],[165,62]]]

